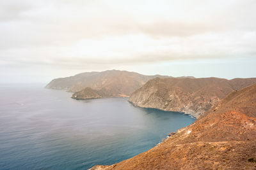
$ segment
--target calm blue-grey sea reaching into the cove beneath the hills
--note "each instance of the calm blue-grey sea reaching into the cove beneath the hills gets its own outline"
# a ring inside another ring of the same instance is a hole
[[[127,98],[74,100],[40,85],[0,86],[0,169],[88,169],[129,159],[195,121]]]

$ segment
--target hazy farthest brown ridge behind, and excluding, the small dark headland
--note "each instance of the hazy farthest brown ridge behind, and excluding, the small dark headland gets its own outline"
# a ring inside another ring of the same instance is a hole
[[[119,76],[119,77],[118,77]],[[135,72],[120,71],[120,70],[107,70],[101,72],[85,72],[79,73],[74,76],[68,76],[65,78],[56,78],[48,83],[45,88],[47,89],[63,89],[68,92],[78,92],[86,87],[90,87],[94,90],[100,90],[108,84],[119,83],[127,87],[126,83],[131,82],[131,88],[137,88],[143,85],[148,80],[156,78],[161,75],[147,76]],[[168,76],[161,76],[168,77]],[[112,79],[112,80],[111,80]],[[129,80],[129,81],[128,81]],[[115,81],[115,82],[111,82]],[[122,82],[124,81],[124,82]],[[128,88],[128,87],[127,87]],[[132,89],[132,90],[133,90]],[[131,89],[127,90],[128,92]]]

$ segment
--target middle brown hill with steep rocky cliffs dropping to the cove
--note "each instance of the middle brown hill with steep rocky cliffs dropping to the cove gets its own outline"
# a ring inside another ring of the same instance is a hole
[[[256,78],[155,78],[129,97],[135,106],[181,111],[198,118],[233,90],[256,83]]]

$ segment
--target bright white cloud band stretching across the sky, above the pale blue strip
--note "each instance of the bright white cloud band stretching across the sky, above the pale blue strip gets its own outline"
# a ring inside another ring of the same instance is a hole
[[[136,41],[134,41],[136,39]],[[17,57],[19,53],[19,57]],[[255,32],[198,34],[186,38],[150,38],[145,34],[83,39],[65,46],[35,46],[2,50],[7,61],[62,67],[118,66],[171,60],[252,57],[256,53]]]

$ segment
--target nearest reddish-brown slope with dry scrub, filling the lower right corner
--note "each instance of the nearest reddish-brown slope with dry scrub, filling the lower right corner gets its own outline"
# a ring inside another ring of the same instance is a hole
[[[92,169],[256,169],[256,84],[147,152]]]

